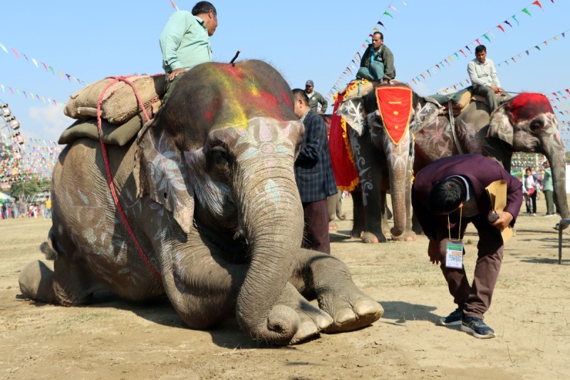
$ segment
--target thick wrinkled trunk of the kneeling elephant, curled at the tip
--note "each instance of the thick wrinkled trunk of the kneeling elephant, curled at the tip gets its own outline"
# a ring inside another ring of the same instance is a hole
[[[237,187],[251,263],[237,297],[237,320],[254,339],[289,344],[299,328],[293,309],[275,306],[301,247],[303,209],[291,167],[255,170]],[[270,170],[269,170],[270,169]]]

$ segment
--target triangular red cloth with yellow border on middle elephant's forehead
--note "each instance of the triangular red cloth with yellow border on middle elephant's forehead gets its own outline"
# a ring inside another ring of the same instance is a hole
[[[378,86],[375,91],[384,128],[392,142],[398,145],[410,126],[412,89],[408,86]]]

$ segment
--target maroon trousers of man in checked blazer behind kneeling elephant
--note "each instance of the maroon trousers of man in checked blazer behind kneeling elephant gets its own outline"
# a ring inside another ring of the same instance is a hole
[[[303,203],[305,228],[302,247],[331,254],[331,240],[328,238],[328,202],[326,198],[316,202]]]

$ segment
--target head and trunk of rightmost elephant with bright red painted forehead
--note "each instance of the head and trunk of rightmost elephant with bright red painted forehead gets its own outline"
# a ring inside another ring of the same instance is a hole
[[[491,115],[487,138],[497,138],[513,152],[546,155],[552,170],[554,193],[561,217],[570,217],[566,202],[566,163],[558,120],[546,96],[522,93],[503,103]]]

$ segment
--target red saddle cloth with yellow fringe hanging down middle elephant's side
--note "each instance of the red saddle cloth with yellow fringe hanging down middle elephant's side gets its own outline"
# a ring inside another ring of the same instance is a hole
[[[344,93],[339,93],[334,102],[328,149],[331,152],[331,165],[336,179],[336,187],[338,190],[352,191],[358,185],[358,172],[354,168],[351,142],[348,139],[348,133],[346,133],[346,122],[336,114],[343,98]]]

